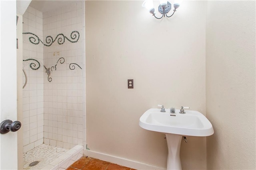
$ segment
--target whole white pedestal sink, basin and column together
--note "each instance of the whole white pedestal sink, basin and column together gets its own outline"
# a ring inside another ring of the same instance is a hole
[[[180,143],[182,136],[206,137],[214,133],[210,121],[199,111],[186,110],[180,114],[160,112],[161,109],[148,109],[139,121],[140,127],[150,131],[164,133],[168,146],[167,170],[181,170]]]

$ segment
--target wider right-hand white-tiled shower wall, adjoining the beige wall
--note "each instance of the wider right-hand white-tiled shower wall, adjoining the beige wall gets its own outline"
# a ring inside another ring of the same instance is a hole
[[[85,143],[84,2],[43,13],[43,30],[56,39],[44,46],[44,143],[70,149]]]

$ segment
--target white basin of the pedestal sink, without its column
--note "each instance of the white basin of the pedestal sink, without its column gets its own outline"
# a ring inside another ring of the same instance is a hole
[[[210,121],[199,111],[185,110],[185,114],[180,114],[178,109],[175,113],[170,113],[170,109],[166,109],[166,112],[160,110],[148,109],[140,117],[140,127],[184,136],[205,137],[214,133]]]

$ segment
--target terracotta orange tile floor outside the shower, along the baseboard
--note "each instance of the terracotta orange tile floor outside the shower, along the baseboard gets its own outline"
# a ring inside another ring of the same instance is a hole
[[[84,156],[79,160],[77,160],[76,162],[74,162],[66,170],[134,170],[134,169]]]

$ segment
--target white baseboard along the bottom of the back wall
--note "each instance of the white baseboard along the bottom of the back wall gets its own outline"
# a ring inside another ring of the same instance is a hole
[[[134,168],[136,170],[166,170],[166,168],[160,168],[160,167],[153,166],[153,165],[143,164],[141,162],[136,162],[134,160],[128,160],[125,158],[120,158],[117,156],[112,156],[112,155],[108,155],[108,154],[104,154],[104,153],[100,153],[100,152],[95,152],[92,150],[84,150],[84,155],[92,157],[92,158],[104,160],[107,162],[112,162],[112,163],[115,163],[118,165],[126,166],[129,168]]]

